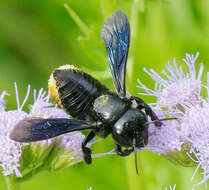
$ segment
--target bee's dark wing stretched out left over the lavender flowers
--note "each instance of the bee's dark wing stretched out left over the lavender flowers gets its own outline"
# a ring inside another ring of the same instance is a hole
[[[18,142],[33,142],[58,135],[94,128],[89,122],[66,118],[43,119],[26,118],[21,120],[10,133],[10,138]]]

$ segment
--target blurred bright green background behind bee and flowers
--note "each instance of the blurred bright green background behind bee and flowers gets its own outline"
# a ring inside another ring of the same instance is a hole
[[[64,3],[69,4],[71,16]],[[160,71],[173,57],[181,62],[185,53],[200,52],[198,61],[204,62],[208,70],[209,1],[1,0],[0,91],[11,94],[7,97],[7,108],[16,108],[15,81],[23,100],[28,84],[47,90],[50,72],[64,64],[82,68],[113,89],[100,31],[105,19],[118,9],[123,10],[131,22],[127,89],[133,95],[139,92],[135,87],[137,78],[149,87],[154,85],[142,71],[143,67]],[[73,13],[83,23],[72,17]],[[31,101],[32,96],[28,103]],[[93,148],[94,152],[105,152],[112,146],[108,138]],[[106,156],[94,159],[90,166],[81,163],[59,172],[42,172],[23,183],[22,189],[163,190],[169,184],[176,184],[177,190],[186,190],[201,179],[199,175],[194,182],[190,181],[195,168],[173,165],[150,152],[139,153],[139,156],[139,176],[132,156]],[[6,189],[3,178],[0,178],[0,189]],[[204,186],[195,189],[204,189]]]

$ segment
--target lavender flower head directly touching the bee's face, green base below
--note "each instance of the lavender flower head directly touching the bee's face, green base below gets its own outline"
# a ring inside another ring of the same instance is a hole
[[[176,115],[169,114],[159,107],[153,107],[153,111],[158,118],[174,118]],[[156,128],[151,124],[148,128],[148,150],[163,155],[169,161],[180,164],[182,166],[194,166],[193,161],[187,156],[186,152],[190,148],[190,143],[187,141],[184,134],[182,124],[178,120],[163,121],[160,128]]]

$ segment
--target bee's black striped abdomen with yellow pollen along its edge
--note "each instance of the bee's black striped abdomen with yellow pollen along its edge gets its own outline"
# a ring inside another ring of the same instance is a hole
[[[49,79],[54,100],[73,117],[90,115],[95,98],[108,91],[99,81],[72,65],[55,69]]]

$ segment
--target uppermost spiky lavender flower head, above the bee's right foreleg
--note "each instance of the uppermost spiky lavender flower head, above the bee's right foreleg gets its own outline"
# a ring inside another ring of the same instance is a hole
[[[177,66],[176,59],[173,59],[173,65],[167,64],[167,72],[163,70],[160,76],[153,69],[145,72],[155,81],[155,89],[151,90],[143,85],[139,80],[138,88],[142,88],[146,93],[139,93],[142,95],[156,96],[157,104],[160,107],[168,109],[180,108],[184,104],[196,104],[200,101],[201,93],[201,77],[203,72],[203,65],[200,66],[199,71],[195,69],[195,63],[199,53],[194,55],[186,54],[183,62],[188,68],[188,73],[183,71],[182,66]]]

